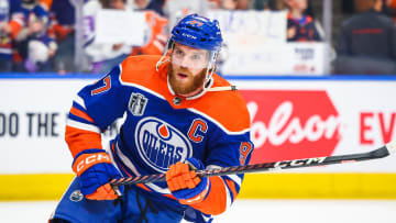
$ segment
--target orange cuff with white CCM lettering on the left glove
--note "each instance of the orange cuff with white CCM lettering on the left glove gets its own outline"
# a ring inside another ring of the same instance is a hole
[[[89,167],[100,163],[111,164],[110,156],[105,152],[97,154],[81,154],[73,165],[73,171],[79,177]]]

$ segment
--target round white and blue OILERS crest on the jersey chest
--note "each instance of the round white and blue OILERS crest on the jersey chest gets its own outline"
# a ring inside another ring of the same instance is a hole
[[[176,127],[153,116],[138,123],[135,142],[145,164],[160,172],[193,156],[193,146],[187,137]]]

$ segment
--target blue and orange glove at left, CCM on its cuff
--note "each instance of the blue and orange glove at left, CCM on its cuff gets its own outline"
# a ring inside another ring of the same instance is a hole
[[[76,155],[73,171],[79,179],[81,193],[90,200],[114,200],[118,198],[111,188],[111,179],[121,178],[103,149],[86,149]],[[123,192],[123,187],[119,188]]]

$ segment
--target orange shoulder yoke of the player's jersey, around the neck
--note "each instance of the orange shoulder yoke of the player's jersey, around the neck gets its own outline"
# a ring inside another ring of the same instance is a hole
[[[124,85],[140,85],[163,96],[175,109],[195,109],[215,119],[228,131],[240,132],[249,129],[250,115],[246,103],[237,91],[206,92],[205,97],[195,100],[182,100],[179,105],[173,103],[173,96],[167,87],[166,70],[168,63],[160,66],[160,74],[155,65],[161,56],[146,55],[128,57],[122,63],[121,81]],[[145,74],[145,75],[141,75]],[[153,80],[154,79],[154,80]],[[230,83],[213,74],[212,87],[230,86]],[[228,109],[232,108],[232,109]],[[227,112],[223,112],[227,109]]]

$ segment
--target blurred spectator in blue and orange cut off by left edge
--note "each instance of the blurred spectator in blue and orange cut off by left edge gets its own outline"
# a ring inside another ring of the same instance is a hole
[[[23,27],[20,0],[0,0],[0,71],[12,69],[12,42]]]

